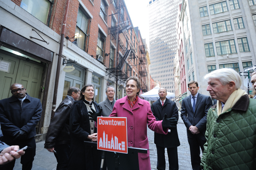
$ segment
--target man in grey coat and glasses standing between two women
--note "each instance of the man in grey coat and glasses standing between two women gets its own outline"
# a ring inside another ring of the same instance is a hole
[[[108,117],[112,113],[114,104],[116,103],[114,99],[115,92],[114,86],[107,86],[106,95],[108,98],[99,103],[100,107],[102,107],[102,116]]]

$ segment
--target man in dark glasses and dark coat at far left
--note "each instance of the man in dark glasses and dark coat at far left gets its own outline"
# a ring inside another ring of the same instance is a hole
[[[9,145],[28,146],[26,154],[21,156],[23,170],[31,170],[35,156],[35,126],[41,118],[40,99],[32,98],[26,93],[22,84],[12,84],[12,97],[0,101],[0,122],[3,142]],[[1,165],[0,170],[12,170],[15,160]]]

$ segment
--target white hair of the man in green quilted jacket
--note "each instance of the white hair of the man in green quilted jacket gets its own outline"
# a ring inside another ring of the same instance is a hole
[[[223,86],[230,83],[230,81],[234,81],[236,89],[239,89],[242,84],[240,75],[234,69],[228,68],[214,70],[213,72],[205,75],[204,79],[207,81],[209,79],[218,79]]]

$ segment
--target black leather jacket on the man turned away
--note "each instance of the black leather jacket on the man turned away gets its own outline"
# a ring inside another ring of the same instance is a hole
[[[71,96],[61,101],[48,128],[44,148],[52,148],[58,144],[70,144],[70,112],[74,104]]]

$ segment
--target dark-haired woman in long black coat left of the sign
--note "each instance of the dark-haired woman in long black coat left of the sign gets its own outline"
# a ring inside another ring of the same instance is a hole
[[[79,101],[75,101],[70,113],[70,159],[69,170],[99,170],[100,154],[97,147],[84,141],[97,141],[97,129],[88,112],[100,115],[102,109],[93,101],[94,86],[87,84],[81,89]]]

